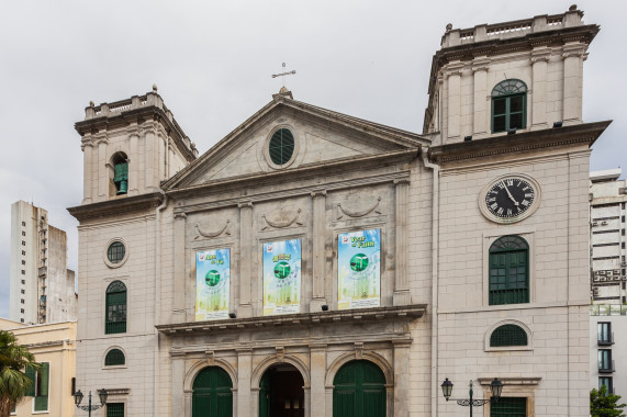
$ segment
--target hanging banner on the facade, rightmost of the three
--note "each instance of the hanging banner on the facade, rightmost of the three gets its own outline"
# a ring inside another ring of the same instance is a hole
[[[337,308],[381,305],[381,229],[337,237]]]

